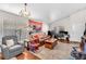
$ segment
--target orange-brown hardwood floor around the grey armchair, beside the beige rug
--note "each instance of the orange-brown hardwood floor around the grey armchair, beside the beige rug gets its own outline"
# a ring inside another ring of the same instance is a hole
[[[26,49],[25,49],[25,51],[24,51],[22,54],[15,56],[15,57],[16,57],[17,60],[40,60],[38,56],[32,54],[32,53],[30,53],[29,51],[27,51]],[[0,53],[0,60],[2,60],[1,53]]]

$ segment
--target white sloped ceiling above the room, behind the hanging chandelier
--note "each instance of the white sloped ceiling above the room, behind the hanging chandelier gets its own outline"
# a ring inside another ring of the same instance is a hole
[[[23,7],[23,3],[0,3],[0,10],[14,14],[19,14]],[[28,3],[30,16],[47,23],[58,21],[85,8],[85,3]]]

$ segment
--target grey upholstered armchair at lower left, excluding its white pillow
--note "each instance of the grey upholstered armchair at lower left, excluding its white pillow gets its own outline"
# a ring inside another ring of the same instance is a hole
[[[8,47],[7,40],[13,39],[14,44]],[[11,59],[24,51],[24,44],[17,42],[16,36],[5,36],[2,38],[1,52],[3,59]]]

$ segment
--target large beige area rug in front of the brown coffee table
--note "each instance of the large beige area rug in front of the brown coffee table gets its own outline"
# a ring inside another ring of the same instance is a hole
[[[77,47],[77,43],[62,43],[59,42],[52,50],[40,47],[37,52],[32,52],[41,60],[72,60],[70,55],[72,47]]]

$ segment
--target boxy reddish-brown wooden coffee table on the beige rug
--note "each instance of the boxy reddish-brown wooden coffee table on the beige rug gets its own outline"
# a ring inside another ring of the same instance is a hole
[[[57,46],[57,42],[58,40],[56,38],[50,38],[48,40],[45,40],[45,48],[48,48],[48,49],[53,49],[54,46]]]

